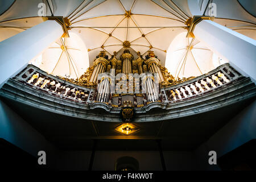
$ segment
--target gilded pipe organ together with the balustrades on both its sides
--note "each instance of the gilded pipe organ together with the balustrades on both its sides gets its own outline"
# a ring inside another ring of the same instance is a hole
[[[151,107],[164,109],[168,103],[203,96],[241,77],[229,64],[223,64],[199,77],[175,78],[153,51],[143,57],[140,52],[132,55],[124,49],[117,55],[114,52],[109,57],[100,51],[92,67],[76,80],[50,75],[34,65],[14,78],[65,100],[120,111],[122,121],[131,122],[135,108],[141,108],[141,112]]]

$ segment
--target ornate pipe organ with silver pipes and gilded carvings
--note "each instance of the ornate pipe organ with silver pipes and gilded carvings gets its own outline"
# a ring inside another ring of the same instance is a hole
[[[148,51],[145,59],[139,52],[137,59],[134,59],[129,49],[125,49],[119,59],[117,55],[118,53],[114,52],[109,59],[106,52],[101,51],[93,61],[93,66],[88,68],[84,75],[78,80],[69,81],[96,88],[93,102],[102,102],[112,107],[122,107],[122,109],[161,102],[163,96],[160,86],[176,83],[167,69],[161,67],[153,51]],[[206,83],[203,82],[203,84]],[[176,94],[181,96],[185,91],[181,89],[172,93],[175,96]],[[166,93],[164,94],[166,98]]]

